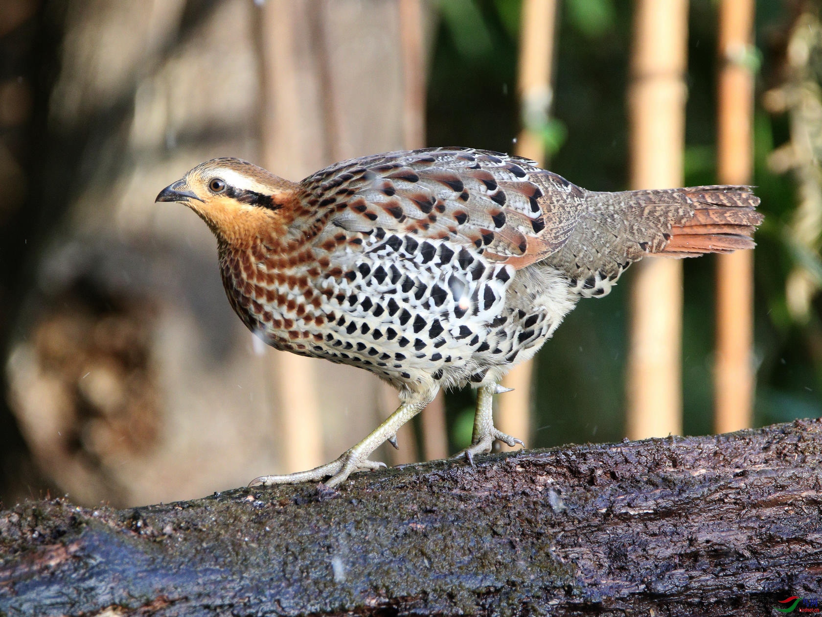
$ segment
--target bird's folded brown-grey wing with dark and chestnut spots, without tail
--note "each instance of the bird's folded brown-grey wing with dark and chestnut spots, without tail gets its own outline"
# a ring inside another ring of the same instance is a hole
[[[566,190],[546,200],[548,178]],[[383,229],[448,239],[515,267],[560,248],[584,201],[580,188],[532,160],[459,148],[344,161],[302,185],[303,203],[330,225],[364,234]]]

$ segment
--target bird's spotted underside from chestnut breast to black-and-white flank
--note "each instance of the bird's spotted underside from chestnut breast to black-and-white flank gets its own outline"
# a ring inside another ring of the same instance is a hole
[[[223,277],[242,321],[280,350],[352,364],[392,383],[483,382],[551,327],[541,306],[520,307],[515,269],[444,239],[376,229],[353,249],[272,257],[229,253]],[[330,257],[329,257],[330,253]]]

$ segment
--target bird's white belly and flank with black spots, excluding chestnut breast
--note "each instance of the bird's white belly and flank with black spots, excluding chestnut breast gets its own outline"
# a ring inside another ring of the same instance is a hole
[[[550,267],[515,271],[445,240],[388,234],[363,248],[335,256],[342,276],[316,282],[333,319],[307,353],[400,387],[496,380],[531,357],[579,298]]]

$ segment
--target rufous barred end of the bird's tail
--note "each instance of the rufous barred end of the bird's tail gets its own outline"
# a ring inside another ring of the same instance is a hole
[[[697,257],[754,248],[753,234],[764,216],[755,211],[760,198],[748,186],[678,188],[693,216],[672,225],[667,244],[658,254]]]

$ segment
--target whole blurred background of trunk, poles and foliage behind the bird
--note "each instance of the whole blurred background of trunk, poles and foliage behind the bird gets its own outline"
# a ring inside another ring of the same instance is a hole
[[[512,375],[499,422],[533,448],[822,415],[820,7],[730,3],[0,0],[0,502],[189,499],[326,462],[393,411],[369,373],[261,346],[210,231],[155,204],[215,156],[301,179],[474,146],[600,191],[752,183],[752,274],[632,267]],[[463,448],[473,395],[377,456]]]

